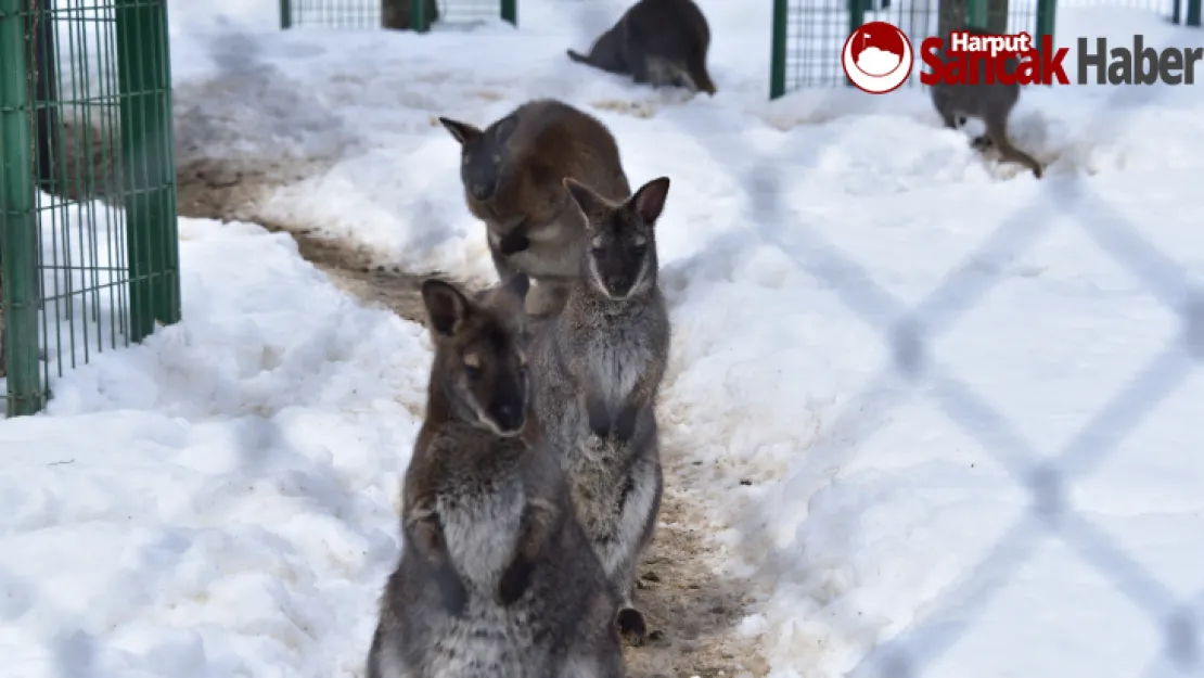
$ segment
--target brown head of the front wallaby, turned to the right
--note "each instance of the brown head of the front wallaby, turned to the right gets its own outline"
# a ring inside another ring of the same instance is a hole
[[[472,300],[450,283],[423,283],[436,344],[433,372],[441,375],[444,395],[462,419],[501,437],[517,436],[526,425],[531,384],[521,341],[527,287],[526,276],[515,276]]]

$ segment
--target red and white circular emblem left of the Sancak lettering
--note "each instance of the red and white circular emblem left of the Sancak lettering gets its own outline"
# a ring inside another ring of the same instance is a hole
[[[870,22],[852,31],[840,51],[844,75],[869,94],[895,92],[911,76],[914,65],[911,41],[886,22]]]

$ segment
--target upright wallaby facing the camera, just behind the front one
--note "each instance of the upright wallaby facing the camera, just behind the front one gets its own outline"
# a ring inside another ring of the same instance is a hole
[[[671,325],[657,284],[655,226],[669,179],[624,202],[573,179],[589,249],[563,311],[532,347],[542,382],[536,412],[562,462],[578,518],[622,603],[618,629],[647,633],[632,596],[639,555],[653,537],[663,477],[656,396],[668,362]]]

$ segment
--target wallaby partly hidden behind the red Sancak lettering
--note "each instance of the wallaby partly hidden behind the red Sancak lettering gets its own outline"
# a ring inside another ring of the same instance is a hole
[[[960,30],[972,35],[995,35],[990,31],[966,26]],[[949,40],[946,37],[945,43]],[[944,49],[937,52],[944,61],[948,60]],[[1016,58],[1004,60],[1004,71],[1015,75],[1020,61]],[[975,84],[949,84],[938,82],[932,86],[932,104],[940,113],[945,126],[960,129],[968,118],[981,119],[986,125],[986,132],[974,138],[972,145],[979,151],[985,151],[993,146],[999,151],[1004,160],[1019,163],[1032,170],[1037,178],[1041,177],[1041,164],[1035,158],[1016,148],[1008,138],[1008,117],[1020,100],[1020,83],[1005,84],[1002,82],[986,82],[986,65],[978,73]]]

